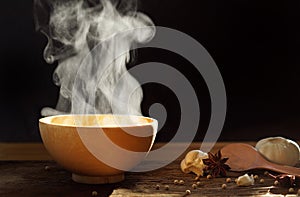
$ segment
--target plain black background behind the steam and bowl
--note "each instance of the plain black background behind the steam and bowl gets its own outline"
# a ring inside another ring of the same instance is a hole
[[[43,59],[46,38],[34,30],[32,7],[31,0],[0,2],[0,141],[40,141],[40,110],[54,107],[58,98],[52,82],[55,64]],[[214,58],[228,100],[220,140],[300,139],[300,1],[144,0],[140,10],[156,25],[197,39]],[[138,51],[136,63],[150,60],[174,66],[196,88],[202,119],[195,140],[201,140],[210,116],[201,74],[176,54]],[[154,102],[168,110],[168,122],[157,138],[167,141],[178,126],[176,96],[157,84],[143,88],[145,115]]]

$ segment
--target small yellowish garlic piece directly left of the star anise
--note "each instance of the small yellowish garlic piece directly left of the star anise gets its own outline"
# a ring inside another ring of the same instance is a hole
[[[193,172],[197,176],[203,176],[205,164],[203,163],[202,159],[206,158],[208,158],[207,153],[202,152],[201,150],[192,150],[188,152],[180,163],[182,172]]]

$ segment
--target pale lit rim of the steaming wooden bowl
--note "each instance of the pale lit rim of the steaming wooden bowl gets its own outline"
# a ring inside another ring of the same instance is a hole
[[[66,117],[66,116],[128,116],[128,117],[136,117],[136,118],[146,118],[151,120],[148,123],[139,123],[139,124],[120,124],[120,125],[91,125],[91,126],[82,126],[82,125],[71,125],[71,124],[60,124],[60,123],[53,123],[51,120],[57,117]],[[62,126],[62,127],[75,127],[75,128],[126,128],[126,127],[143,127],[143,126],[153,126],[157,125],[157,120],[151,117],[143,116],[143,115],[131,115],[131,114],[60,114],[60,115],[53,115],[47,116],[39,119],[39,123],[47,124],[47,125],[54,125],[54,126]]]

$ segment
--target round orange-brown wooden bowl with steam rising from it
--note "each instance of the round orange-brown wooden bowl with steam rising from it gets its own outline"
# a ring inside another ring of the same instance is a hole
[[[44,145],[75,182],[115,183],[150,151],[157,121],[132,115],[58,115],[39,120]]]

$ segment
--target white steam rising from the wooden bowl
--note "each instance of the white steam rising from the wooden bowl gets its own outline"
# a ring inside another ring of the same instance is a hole
[[[60,86],[56,109],[44,108],[43,116],[141,114],[142,90],[126,63],[131,46],[151,40],[155,28],[136,7],[134,0],[35,1],[36,28],[48,39],[44,58],[58,61]]]

